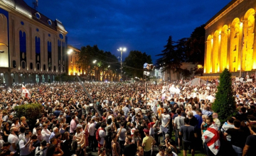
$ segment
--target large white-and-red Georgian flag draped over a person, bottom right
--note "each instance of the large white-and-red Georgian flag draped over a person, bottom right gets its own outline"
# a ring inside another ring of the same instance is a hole
[[[220,135],[218,127],[214,123],[203,133],[202,140],[214,155],[218,154],[220,150]]]

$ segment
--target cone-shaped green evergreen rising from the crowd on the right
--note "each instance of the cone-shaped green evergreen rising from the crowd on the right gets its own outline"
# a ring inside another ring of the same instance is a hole
[[[218,113],[221,123],[224,123],[229,116],[233,116],[236,112],[235,97],[231,86],[231,73],[228,69],[224,69],[223,73],[220,74],[220,83],[212,107],[213,111]]]

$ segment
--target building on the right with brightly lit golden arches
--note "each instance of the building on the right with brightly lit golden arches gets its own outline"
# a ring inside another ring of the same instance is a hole
[[[232,0],[206,23],[204,73],[256,70],[255,0]]]

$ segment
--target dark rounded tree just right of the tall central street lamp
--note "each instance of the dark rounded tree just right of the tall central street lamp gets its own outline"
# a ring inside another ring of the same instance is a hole
[[[144,63],[151,64],[151,56],[146,55],[146,52],[140,52],[138,50],[132,50],[124,60],[124,72],[132,75],[133,77],[143,77],[143,65]]]

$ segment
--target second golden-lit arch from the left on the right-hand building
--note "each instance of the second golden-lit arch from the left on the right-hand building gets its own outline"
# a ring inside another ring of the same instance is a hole
[[[219,31],[215,30],[213,35],[213,72],[219,72]]]

